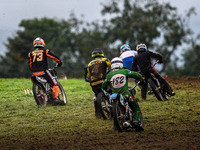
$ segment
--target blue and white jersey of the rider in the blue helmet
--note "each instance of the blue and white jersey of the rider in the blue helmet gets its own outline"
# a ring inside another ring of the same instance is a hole
[[[120,58],[123,60],[124,67],[128,70],[131,70],[133,58],[137,55],[136,51],[125,51],[120,55]]]

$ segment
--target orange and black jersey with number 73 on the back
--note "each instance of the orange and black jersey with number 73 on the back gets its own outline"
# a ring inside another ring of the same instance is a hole
[[[48,49],[36,48],[28,54],[29,68],[32,72],[39,72],[48,69],[47,57],[53,59],[58,64],[62,64],[61,60],[51,53]]]

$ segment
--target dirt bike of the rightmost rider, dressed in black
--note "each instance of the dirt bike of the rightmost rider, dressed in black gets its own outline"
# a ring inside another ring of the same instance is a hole
[[[159,61],[155,62],[154,66]],[[168,100],[167,91],[164,90],[163,85],[159,82],[159,80],[154,76],[153,73],[150,73],[150,76],[145,78],[147,82],[148,94],[154,94],[159,101]]]

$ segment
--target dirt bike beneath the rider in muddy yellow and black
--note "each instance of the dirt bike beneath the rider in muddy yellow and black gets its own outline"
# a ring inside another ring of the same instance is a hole
[[[109,100],[110,93],[105,91],[104,89],[100,89],[97,95],[97,107],[100,116],[103,119],[111,119],[112,118],[112,105]]]

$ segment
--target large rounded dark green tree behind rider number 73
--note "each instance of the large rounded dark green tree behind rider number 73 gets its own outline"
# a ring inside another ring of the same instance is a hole
[[[15,37],[8,38],[6,44],[8,52],[5,57],[1,57],[1,70],[4,70],[1,72],[1,77],[30,76],[27,58],[28,53],[33,50],[32,43],[36,37],[44,38],[46,48],[58,56],[66,58],[68,53],[73,53],[71,47],[74,45],[75,34],[72,32],[70,23],[42,18],[41,20],[23,20],[19,26],[22,30],[18,30]],[[69,61],[70,59],[64,59],[64,63]]]

